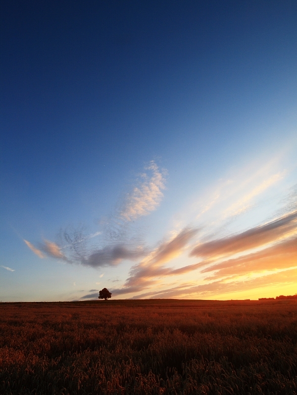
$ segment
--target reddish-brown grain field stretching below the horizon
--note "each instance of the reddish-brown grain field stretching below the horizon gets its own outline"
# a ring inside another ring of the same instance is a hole
[[[0,394],[297,394],[297,300],[0,303]]]

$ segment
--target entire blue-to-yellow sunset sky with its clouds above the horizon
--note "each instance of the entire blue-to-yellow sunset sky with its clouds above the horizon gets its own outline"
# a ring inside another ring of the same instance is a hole
[[[297,293],[297,3],[0,4],[0,300]]]

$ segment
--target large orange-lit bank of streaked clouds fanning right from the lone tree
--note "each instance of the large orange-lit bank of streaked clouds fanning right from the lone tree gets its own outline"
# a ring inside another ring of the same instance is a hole
[[[124,287],[114,290],[114,294],[143,292],[159,284],[160,279],[186,274],[204,266],[203,270],[198,272],[200,283],[204,284],[192,287],[191,284],[185,283],[174,289],[159,291],[160,294],[148,291],[135,297],[177,297],[198,292],[207,292],[210,295],[211,292],[229,292],[230,284],[233,285],[233,289],[237,289],[236,284],[265,284],[266,280],[271,280],[272,272],[279,273],[297,266],[297,211],[238,235],[199,245],[191,252],[192,256],[203,258],[198,263],[178,269],[164,266],[164,263],[184,250],[197,232],[197,229],[184,229],[173,240],[156,248],[131,269]],[[255,248],[258,250],[252,251]],[[238,253],[242,255],[236,256]],[[222,261],[222,257],[233,255],[234,258]],[[210,276],[205,278],[205,273],[209,273]]]

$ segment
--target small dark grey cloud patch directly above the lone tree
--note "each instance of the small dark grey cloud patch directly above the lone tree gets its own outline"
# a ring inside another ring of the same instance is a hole
[[[87,258],[83,258],[81,263],[92,267],[116,266],[123,259],[136,260],[144,254],[145,251],[142,247],[131,250],[123,245],[107,246],[92,252]],[[101,274],[99,277],[101,278],[103,275]]]

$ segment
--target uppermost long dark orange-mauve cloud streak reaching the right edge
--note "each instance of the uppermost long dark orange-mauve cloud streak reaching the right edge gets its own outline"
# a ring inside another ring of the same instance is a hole
[[[286,214],[265,225],[251,228],[237,235],[202,243],[195,247],[190,256],[218,258],[239,253],[268,243],[277,242],[297,232],[297,211]]]

